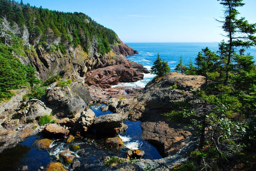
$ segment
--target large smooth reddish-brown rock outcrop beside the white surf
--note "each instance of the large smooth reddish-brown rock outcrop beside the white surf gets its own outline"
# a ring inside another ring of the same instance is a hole
[[[119,82],[135,82],[143,79],[143,73],[127,68],[122,64],[98,68],[84,80],[88,85],[99,85],[108,88]]]

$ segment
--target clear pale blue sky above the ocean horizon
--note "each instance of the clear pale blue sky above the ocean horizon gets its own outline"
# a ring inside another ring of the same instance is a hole
[[[18,0],[16,0],[18,1]],[[19,0],[20,2],[20,0]],[[237,8],[256,23],[256,0]],[[83,12],[116,32],[124,42],[220,42],[225,34],[217,0],[23,0],[24,4],[63,12]]]

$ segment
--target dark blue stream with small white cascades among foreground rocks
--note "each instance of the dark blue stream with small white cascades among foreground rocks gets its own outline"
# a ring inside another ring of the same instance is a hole
[[[105,104],[90,105],[90,108],[97,117],[113,113],[111,111],[102,112],[100,110],[101,106],[105,106]],[[85,164],[98,164],[101,162],[103,156],[118,156],[124,158],[124,152],[128,149],[140,149],[145,151],[144,159],[154,160],[162,158],[153,145],[141,139],[142,130],[140,123],[140,121],[124,121],[124,124],[127,124],[128,128],[124,133],[119,135],[124,142],[124,147],[121,149],[102,148],[105,139],[75,139],[71,144],[66,144],[64,139],[61,138],[52,139],[50,150],[38,150],[32,146],[35,140],[44,138],[41,133],[38,133],[25,139],[16,147],[4,150],[0,153],[0,170],[20,170],[22,166],[28,166],[28,170],[31,171],[38,170],[41,166],[45,168],[50,161],[55,161],[56,154],[67,149],[81,162],[81,166]],[[72,145],[79,145],[81,150],[73,152],[71,150]],[[65,168],[71,170],[70,165],[68,167],[65,166]]]

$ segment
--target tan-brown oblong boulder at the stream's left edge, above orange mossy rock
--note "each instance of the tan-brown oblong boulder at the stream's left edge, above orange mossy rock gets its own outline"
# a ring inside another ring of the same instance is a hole
[[[44,134],[50,137],[61,137],[68,135],[69,130],[62,128],[56,123],[51,123],[44,128]]]

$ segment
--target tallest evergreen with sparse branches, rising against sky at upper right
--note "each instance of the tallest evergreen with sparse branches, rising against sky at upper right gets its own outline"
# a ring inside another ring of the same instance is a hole
[[[220,1],[220,0],[218,0]],[[225,65],[225,83],[228,82],[228,74],[232,70],[232,59],[235,54],[235,49],[239,47],[249,48],[256,45],[256,24],[249,24],[244,17],[237,19],[239,12],[236,7],[244,5],[243,0],[221,0],[224,10],[224,21],[221,22],[222,29],[227,33],[225,37],[228,38],[228,42],[223,43],[223,55],[227,57],[227,63]]]

